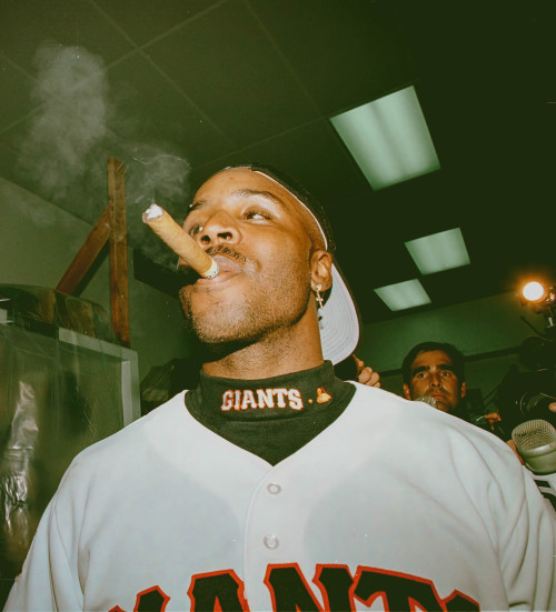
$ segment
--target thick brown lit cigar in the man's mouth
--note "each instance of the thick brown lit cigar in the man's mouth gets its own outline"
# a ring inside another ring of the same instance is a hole
[[[219,272],[218,263],[158,204],[151,204],[142,213],[143,223],[162,239],[181,260],[205,279]]]

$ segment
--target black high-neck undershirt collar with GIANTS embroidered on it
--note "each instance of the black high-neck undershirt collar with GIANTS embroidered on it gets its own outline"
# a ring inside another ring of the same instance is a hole
[[[332,423],[354,393],[355,387],[336,378],[332,364],[325,361],[262,380],[201,372],[197,389],[186,394],[186,407],[218,435],[275,465]]]

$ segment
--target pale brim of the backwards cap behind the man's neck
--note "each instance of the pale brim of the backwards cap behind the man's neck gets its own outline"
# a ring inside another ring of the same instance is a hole
[[[332,288],[325,307],[319,310],[322,357],[339,363],[349,357],[359,342],[359,315],[341,271],[332,264]]]

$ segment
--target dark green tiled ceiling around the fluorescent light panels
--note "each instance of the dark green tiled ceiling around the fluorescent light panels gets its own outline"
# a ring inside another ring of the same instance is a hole
[[[295,177],[327,209],[365,323],[400,315],[373,288],[413,278],[433,300],[420,310],[513,291],[528,273],[556,282],[552,0],[0,7],[0,177],[89,222],[106,205],[109,157],[127,164],[130,182],[155,172],[156,159],[172,162],[179,178],[155,190],[177,218],[210,172],[259,161]],[[54,74],[68,46],[79,49]],[[95,92],[72,89],[86,77]],[[441,168],[374,191],[329,118],[409,84]],[[68,88],[80,97],[64,98]],[[165,289],[171,273],[150,261],[167,262],[135,223],[142,188],[130,189],[136,274]],[[471,264],[420,277],[404,242],[455,227]]]

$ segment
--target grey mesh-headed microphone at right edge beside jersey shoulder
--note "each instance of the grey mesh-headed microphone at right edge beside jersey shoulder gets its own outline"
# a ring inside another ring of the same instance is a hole
[[[512,440],[532,472],[556,472],[556,429],[548,421],[525,421],[512,431]]]

